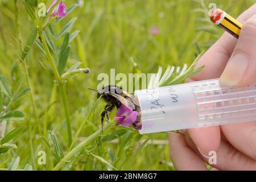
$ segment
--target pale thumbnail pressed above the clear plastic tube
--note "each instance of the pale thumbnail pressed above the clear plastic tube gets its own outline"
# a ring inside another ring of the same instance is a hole
[[[249,59],[242,53],[234,55],[226,65],[224,72],[220,77],[220,84],[226,86],[236,86],[242,80],[247,67]]]

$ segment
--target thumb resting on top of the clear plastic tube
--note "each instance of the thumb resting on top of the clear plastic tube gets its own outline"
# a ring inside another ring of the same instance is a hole
[[[241,28],[234,52],[220,77],[227,86],[247,86],[256,82],[256,15]]]

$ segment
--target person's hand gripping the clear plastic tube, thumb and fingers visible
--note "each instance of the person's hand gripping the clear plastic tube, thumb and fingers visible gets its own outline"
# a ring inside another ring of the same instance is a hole
[[[203,71],[191,81],[220,77],[223,85],[256,82],[256,4],[238,17],[243,24],[237,40],[227,32],[201,57]],[[188,129],[170,133],[170,154],[177,170],[207,170],[210,151],[216,151],[220,170],[256,170],[256,122]],[[203,155],[202,155],[203,154]]]

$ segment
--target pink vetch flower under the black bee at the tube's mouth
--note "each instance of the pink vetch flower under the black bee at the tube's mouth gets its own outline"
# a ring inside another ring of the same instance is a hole
[[[117,109],[117,114],[115,115],[114,118],[118,119],[117,125],[122,125],[127,127],[130,125],[133,125],[136,122],[138,114],[139,113],[131,109],[131,107],[121,105]]]

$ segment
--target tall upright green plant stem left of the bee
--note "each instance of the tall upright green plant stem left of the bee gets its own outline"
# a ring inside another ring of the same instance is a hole
[[[42,30],[39,31],[39,35],[42,39],[42,44],[43,44],[43,47],[44,47],[44,51],[46,51],[46,56],[47,56],[47,59],[49,61],[49,64],[51,65],[52,71],[55,75],[55,78],[56,78],[58,84],[59,84],[61,100],[63,101],[63,107],[64,107],[65,118],[66,118],[66,123],[67,123],[68,144],[70,146],[71,143],[72,143],[71,119],[70,119],[69,108],[68,108],[68,98],[67,98],[67,94],[66,94],[65,89],[64,89],[64,83],[63,83],[63,81],[62,81],[62,79],[59,75],[59,72],[57,70],[57,67],[56,67],[56,65],[53,61],[51,52],[49,51],[49,48],[47,46],[46,39],[44,38]]]

